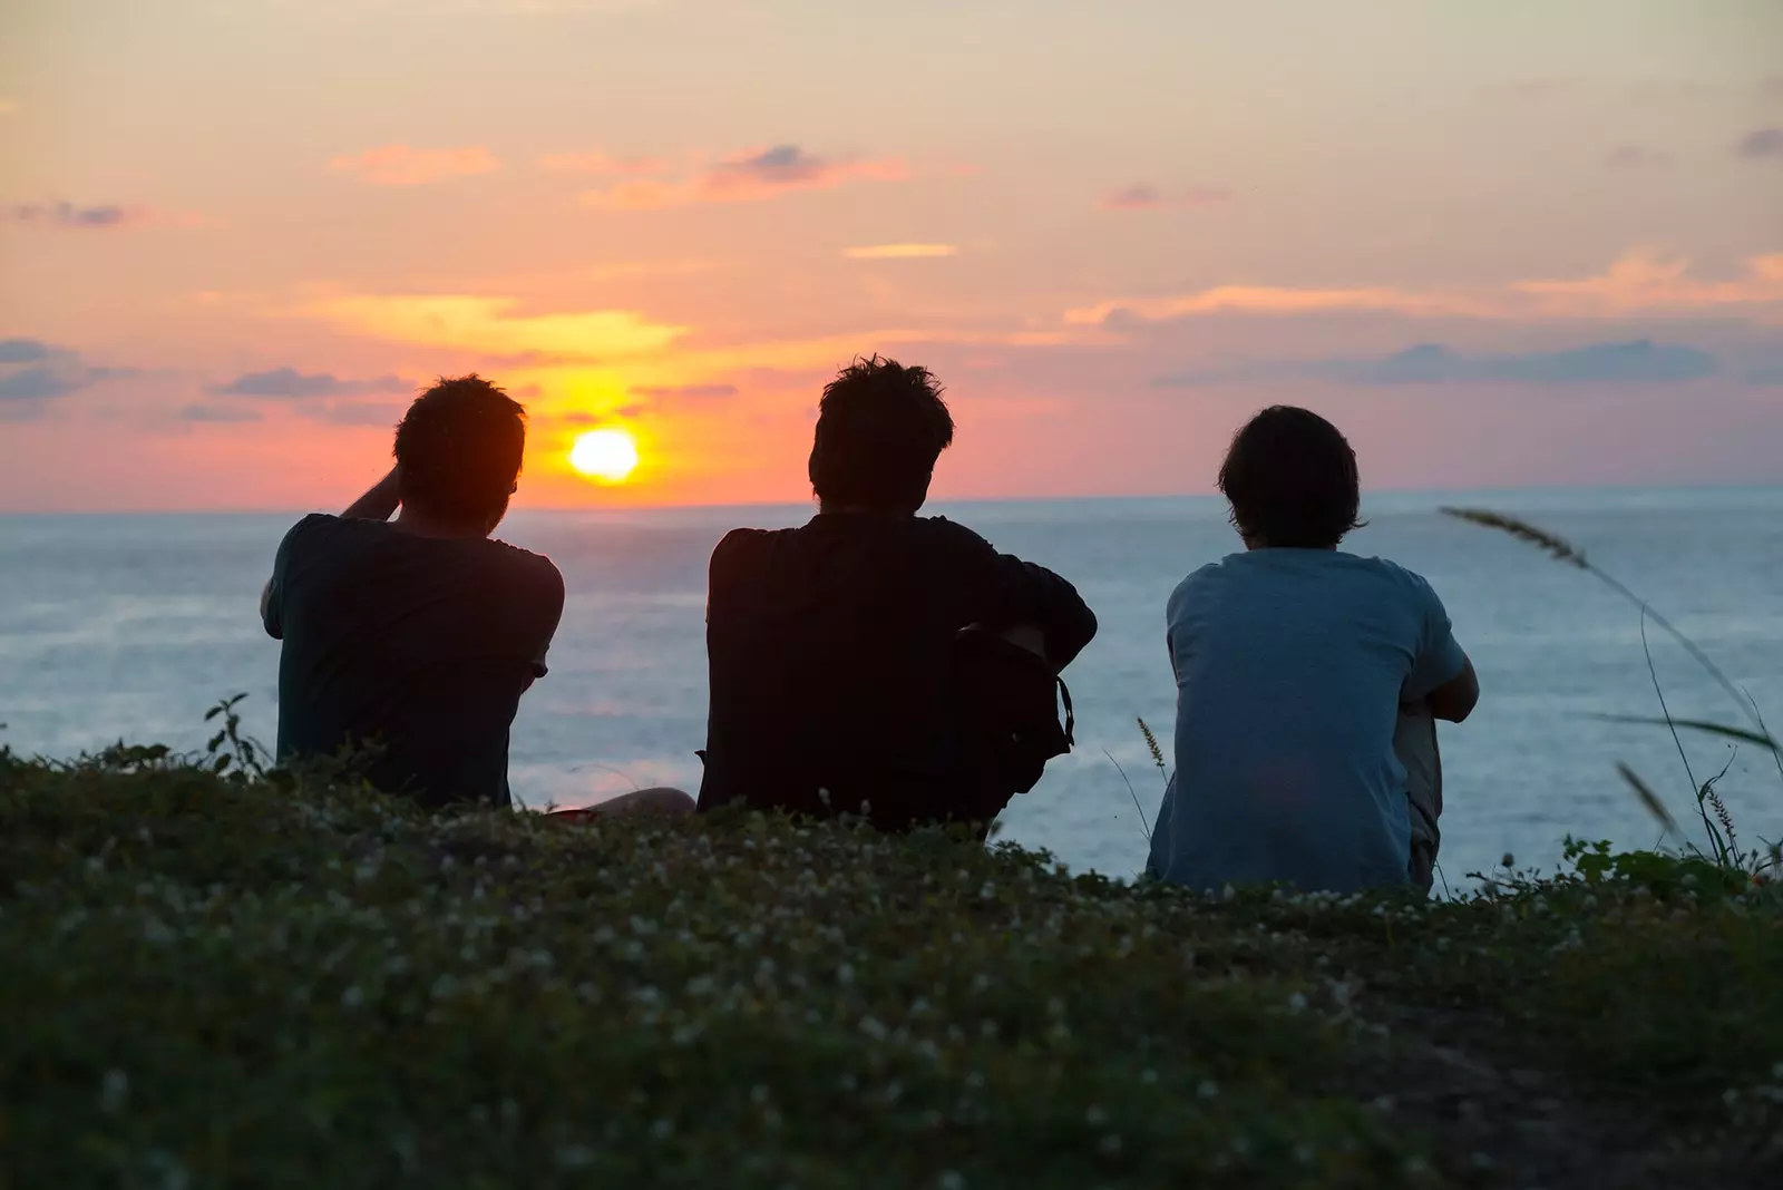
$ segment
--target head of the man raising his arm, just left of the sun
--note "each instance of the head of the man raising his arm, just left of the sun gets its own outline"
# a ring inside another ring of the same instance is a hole
[[[440,378],[396,428],[403,504],[489,533],[508,511],[526,449],[526,410],[476,372]]]

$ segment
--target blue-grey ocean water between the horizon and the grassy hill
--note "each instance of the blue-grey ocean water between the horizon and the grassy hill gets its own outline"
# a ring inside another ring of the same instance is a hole
[[[1567,834],[1655,843],[1658,827],[1617,761],[1689,830],[1696,805],[1671,736],[1594,718],[1658,713],[1639,611],[1589,574],[1441,517],[1441,504],[1514,511],[1569,538],[1783,725],[1783,490],[1387,495],[1364,506],[1371,524],[1348,543],[1426,575],[1480,672],[1480,709],[1442,732],[1441,864],[1451,885],[1507,852],[1519,866],[1551,866]],[[1157,729],[1168,757],[1164,600],[1184,574],[1237,549],[1223,506],[1182,497],[931,511],[1059,570],[1102,622],[1066,673],[1077,752],[1016,798],[1000,837],[1079,869],[1134,875],[1163,793],[1136,718]],[[581,805],[637,786],[697,787],[706,558],[726,529],[808,515],[801,506],[510,517],[501,536],[549,554],[569,584],[551,675],[526,695],[514,727],[515,795]],[[294,518],[0,517],[0,743],[52,757],[119,738],[198,748],[205,709],[237,691],[248,695],[248,727],[271,741],[278,645],[260,629],[257,599]],[[1647,638],[1674,716],[1737,721],[1681,648],[1651,624]],[[1783,835],[1783,777],[1767,754],[1710,736],[1687,736],[1685,750],[1697,780],[1731,759],[1721,791],[1744,841]]]

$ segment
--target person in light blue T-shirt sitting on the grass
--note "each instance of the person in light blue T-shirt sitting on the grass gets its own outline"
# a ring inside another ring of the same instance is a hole
[[[1195,889],[1430,889],[1442,809],[1434,720],[1480,698],[1416,574],[1337,550],[1359,527],[1355,451],[1275,406],[1220,469],[1243,554],[1170,597],[1177,773],[1148,869]]]

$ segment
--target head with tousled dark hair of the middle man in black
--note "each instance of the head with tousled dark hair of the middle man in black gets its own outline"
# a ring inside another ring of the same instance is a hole
[[[824,388],[811,488],[833,508],[916,511],[954,419],[929,369],[856,360]]]

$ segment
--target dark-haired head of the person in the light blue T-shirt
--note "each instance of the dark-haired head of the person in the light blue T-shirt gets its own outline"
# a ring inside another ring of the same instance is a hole
[[[1335,549],[1359,529],[1355,451],[1311,410],[1277,404],[1232,438],[1220,490],[1250,545]]]

